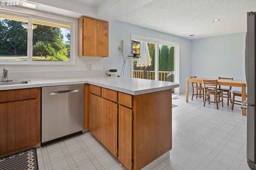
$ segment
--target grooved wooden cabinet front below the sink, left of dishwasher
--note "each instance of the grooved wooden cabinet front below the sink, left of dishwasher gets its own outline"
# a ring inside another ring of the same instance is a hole
[[[40,143],[36,110],[35,99],[0,104],[0,155]]]

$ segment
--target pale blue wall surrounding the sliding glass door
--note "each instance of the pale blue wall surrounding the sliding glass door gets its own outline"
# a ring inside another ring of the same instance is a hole
[[[121,41],[124,40],[124,54],[127,56],[131,51],[131,34],[151,37],[154,39],[162,39],[180,43],[180,93],[186,92],[186,78],[190,76],[191,57],[190,57],[190,40],[161,33],[151,29],[138,27],[119,21],[111,21],[109,23],[109,57],[104,58],[104,70],[118,69],[118,74],[121,74],[123,59],[121,51],[118,51],[118,46],[121,46]],[[124,68],[124,76],[130,76],[130,62],[128,60]],[[122,74],[123,75],[123,74]]]

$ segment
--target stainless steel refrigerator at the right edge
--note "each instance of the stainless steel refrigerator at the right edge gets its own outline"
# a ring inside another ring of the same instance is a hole
[[[256,12],[247,13],[247,162],[256,170]]]

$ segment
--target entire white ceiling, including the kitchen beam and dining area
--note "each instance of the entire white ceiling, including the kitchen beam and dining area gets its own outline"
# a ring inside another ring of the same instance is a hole
[[[186,39],[245,32],[246,13],[256,11],[256,0],[30,0],[30,2],[39,4],[38,10],[41,11],[72,18],[84,15],[106,21],[118,20]],[[217,19],[220,21],[213,22]]]

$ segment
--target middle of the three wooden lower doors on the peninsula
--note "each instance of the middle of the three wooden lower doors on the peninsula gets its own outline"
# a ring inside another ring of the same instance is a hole
[[[101,99],[102,144],[117,157],[117,104]]]

